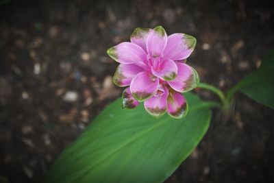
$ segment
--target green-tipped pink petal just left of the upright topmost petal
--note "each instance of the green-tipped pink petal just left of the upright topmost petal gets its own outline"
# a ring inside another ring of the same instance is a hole
[[[146,41],[147,41],[147,36],[149,35],[149,30],[151,29],[138,27],[134,30],[134,32],[132,33],[132,36],[130,36],[130,41],[142,47],[142,49],[144,49],[146,52],[147,52]]]

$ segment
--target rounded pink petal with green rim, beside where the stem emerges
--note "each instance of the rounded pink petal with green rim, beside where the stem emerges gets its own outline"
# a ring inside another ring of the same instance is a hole
[[[199,84],[197,71],[188,64],[177,62],[178,73],[175,80],[169,81],[169,86],[177,92],[188,92]]]

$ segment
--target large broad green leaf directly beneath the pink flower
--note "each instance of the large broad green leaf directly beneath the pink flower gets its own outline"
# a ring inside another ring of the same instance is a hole
[[[185,93],[184,119],[151,117],[143,105],[121,108],[121,99],[105,108],[56,160],[45,182],[164,182],[208,130],[210,103]]]

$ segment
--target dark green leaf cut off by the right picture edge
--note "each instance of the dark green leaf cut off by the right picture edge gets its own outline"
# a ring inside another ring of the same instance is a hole
[[[234,88],[251,99],[274,109],[274,49],[262,59],[260,68],[242,79]]]

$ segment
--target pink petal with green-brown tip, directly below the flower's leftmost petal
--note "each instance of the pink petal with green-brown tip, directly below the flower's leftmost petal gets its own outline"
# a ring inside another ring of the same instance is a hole
[[[114,73],[113,82],[120,87],[129,86],[132,79],[142,71],[144,69],[136,64],[120,64]]]

